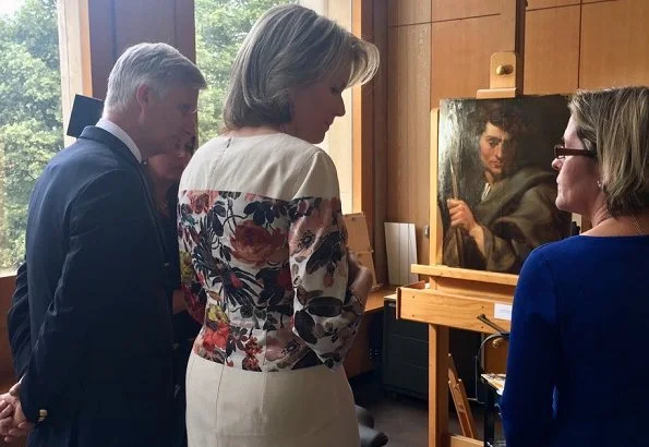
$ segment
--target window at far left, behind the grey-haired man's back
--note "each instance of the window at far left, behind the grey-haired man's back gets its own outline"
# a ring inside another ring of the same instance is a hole
[[[0,270],[24,257],[34,183],[63,145],[57,0],[0,2]]]

